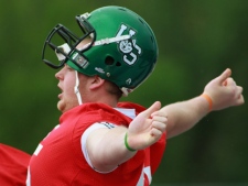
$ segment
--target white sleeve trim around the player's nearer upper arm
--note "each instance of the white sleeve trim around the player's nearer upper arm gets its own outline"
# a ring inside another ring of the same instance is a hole
[[[112,123],[108,123],[108,122],[97,122],[97,123],[94,123],[93,125],[90,125],[88,129],[86,129],[86,131],[82,134],[82,138],[80,138],[80,147],[82,147],[82,152],[83,152],[83,154],[84,154],[84,157],[85,157],[85,160],[86,160],[86,162],[88,163],[88,165],[93,168],[93,169],[95,169],[96,172],[99,172],[99,171],[97,171],[94,166],[93,166],[93,164],[91,164],[91,162],[90,162],[90,158],[89,158],[89,156],[88,156],[88,152],[87,152],[87,147],[86,147],[86,141],[87,141],[87,138],[88,138],[88,135],[93,132],[93,131],[95,131],[95,130],[97,130],[97,129],[112,129],[112,128],[115,128],[116,127],[116,124],[112,124]],[[114,171],[114,169],[112,169]],[[110,171],[110,172],[112,172],[112,171]],[[109,172],[99,172],[99,173],[109,173]]]

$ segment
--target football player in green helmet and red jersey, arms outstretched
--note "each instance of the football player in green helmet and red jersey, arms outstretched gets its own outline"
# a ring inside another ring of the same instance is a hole
[[[78,31],[58,24],[45,40],[43,62],[61,68],[55,77],[62,116],[31,157],[29,186],[150,185],[168,138],[212,110],[244,103],[230,69],[203,95],[162,109],[159,101],[148,109],[119,102],[153,72],[154,33],[140,15],[114,6],[77,15],[76,22]]]

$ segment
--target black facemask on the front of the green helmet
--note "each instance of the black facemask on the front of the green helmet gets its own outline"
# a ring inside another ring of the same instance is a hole
[[[96,40],[96,32],[87,22],[87,15],[88,13],[76,17],[80,29],[80,36],[77,36],[77,34],[62,24],[57,24],[51,31],[45,40],[42,52],[42,59],[46,65],[52,68],[61,68],[67,61],[72,61],[80,68],[87,65],[87,57],[84,56],[84,52],[89,50]],[[88,40],[89,43],[83,48],[77,48],[78,44],[84,40]],[[54,52],[56,54],[55,56]],[[75,56],[75,54],[80,54],[80,56]]]

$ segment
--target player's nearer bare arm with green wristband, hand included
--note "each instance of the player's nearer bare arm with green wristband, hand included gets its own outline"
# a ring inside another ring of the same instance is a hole
[[[131,158],[137,150],[155,143],[166,128],[166,116],[159,111],[161,103],[154,102],[138,114],[129,128],[97,129],[87,139],[87,151],[94,167],[109,172]]]

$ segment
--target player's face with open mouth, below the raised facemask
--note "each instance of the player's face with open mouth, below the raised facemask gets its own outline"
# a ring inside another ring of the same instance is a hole
[[[74,92],[76,72],[69,66],[65,65],[58,73],[56,73],[55,77],[60,80],[57,86],[62,90],[62,92],[58,95],[60,101],[57,102],[57,109],[62,112],[65,112],[78,106],[78,100],[76,94]],[[78,73],[78,78],[80,81],[79,91],[83,99],[84,95],[87,95],[86,85],[88,77]]]

